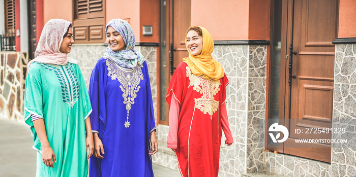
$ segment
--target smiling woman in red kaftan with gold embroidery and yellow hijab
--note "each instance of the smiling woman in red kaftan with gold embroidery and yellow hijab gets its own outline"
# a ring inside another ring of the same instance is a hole
[[[205,28],[190,27],[186,47],[190,55],[177,66],[166,96],[167,147],[175,152],[182,176],[218,176],[222,130],[225,144],[233,143],[225,103],[228,79],[211,56],[214,41]]]

